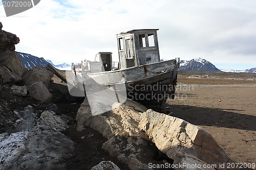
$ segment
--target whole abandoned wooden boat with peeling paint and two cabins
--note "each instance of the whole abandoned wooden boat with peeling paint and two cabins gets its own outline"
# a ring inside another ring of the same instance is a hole
[[[108,89],[118,102],[129,98],[165,112],[166,99],[174,99],[179,58],[160,61],[157,30],[118,34],[118,68],[112,67],[112,53],[100,52],[95,61],[72,65],[74,84],[87,96],[97,93],[101,100],[108,95],[102,91]]]

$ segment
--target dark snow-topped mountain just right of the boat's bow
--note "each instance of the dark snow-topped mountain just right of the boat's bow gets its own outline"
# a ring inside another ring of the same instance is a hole
[[[202,58],[195,58],[190,61],[181,60],[179,71],[221,71]]]

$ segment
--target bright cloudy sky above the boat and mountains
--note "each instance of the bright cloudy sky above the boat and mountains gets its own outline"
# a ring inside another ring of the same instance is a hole
[[[112,52],[116,34],[158,28],[160,58],[204,58],[219,69],[256,67],[254,0],[41,0],[23,13],[6,17],[3,30],[16,34],[16,51],[54,64],[93,60]]]

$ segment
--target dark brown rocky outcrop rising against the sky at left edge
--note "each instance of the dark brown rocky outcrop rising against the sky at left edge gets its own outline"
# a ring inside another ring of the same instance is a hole
[[[21,77],[23,74],[22,62],[14,52],[19,38],[15,34],[3,31],[2,28],[3,25],[0,22],[0,66],[7,67]]]

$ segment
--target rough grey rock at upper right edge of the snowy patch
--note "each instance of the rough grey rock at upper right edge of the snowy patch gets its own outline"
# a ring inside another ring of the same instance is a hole
[[[44,111],[40,116],[40,124],[44,126],[44,129],[50,128],[55,131],[63,131],[67,129],[68,122],[65,117],[56,115],[53,111]]]

